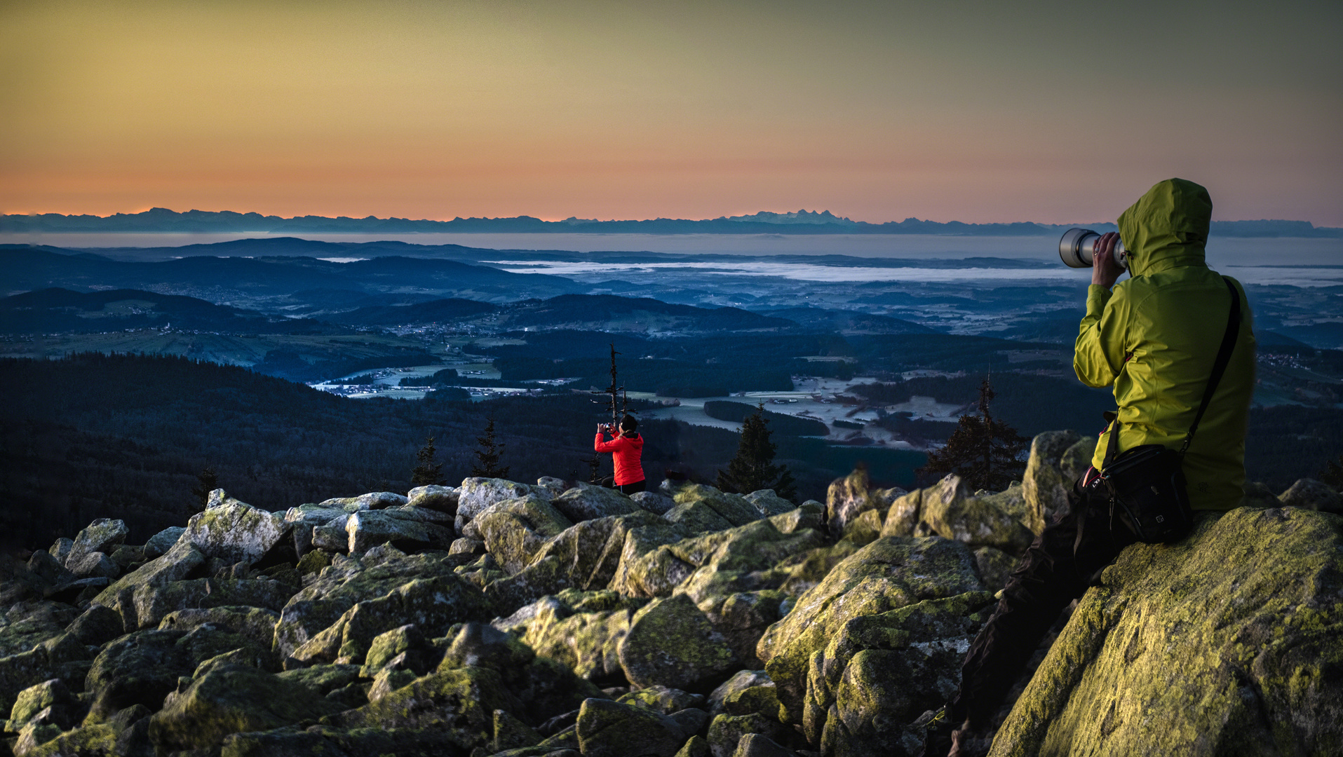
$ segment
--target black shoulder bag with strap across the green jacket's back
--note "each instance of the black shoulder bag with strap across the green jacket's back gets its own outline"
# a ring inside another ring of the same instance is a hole
[[[1232,282],[1222,276],[1232,293],[1232,313],[1226,319],[1226,333],[1222,346],[1217,350],[1213,373],[1203,388],[1203,400],[1198,404],[1194,423],[1185,435],[1185,443],[1178,452],[1163,444],[1142,444],[1119,454],[1119,423],[1111,423],[1109,446],[1105,450],[1101,481],[1109,490],[1111,517],[1119,510],[1119,517],[1133,532],[1139,541],[1147,544],[1171,542],[1185,537],[1194,525],[1194,511],[1189,506],[1189,493],[1185,487],[1185,452],[1198,431],[1209,400],[1217,391],[1217,383],[1226,372],[1236,348],[1236,336],[1241,322],[1241,297]],[[1109,415],[1109,413],[1107,413]]]

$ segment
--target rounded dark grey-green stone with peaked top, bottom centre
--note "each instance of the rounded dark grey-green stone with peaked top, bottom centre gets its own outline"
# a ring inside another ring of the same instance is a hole
[[[634,686],[690,691],[713,689],[739,666],[727,639],[685,596],[657,599],[635,612],[619,656]]]

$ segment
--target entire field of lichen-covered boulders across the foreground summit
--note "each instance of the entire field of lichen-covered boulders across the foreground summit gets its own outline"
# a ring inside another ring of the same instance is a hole
[[[999,493],[469,478],[282,511],[216,490],[144,545],[98,519],[3,564],[0,753],[917,754],[1093,444],[1042,434]],[[1340,509],[1249,485],[1128,548],[971,752],[1343,753]]]

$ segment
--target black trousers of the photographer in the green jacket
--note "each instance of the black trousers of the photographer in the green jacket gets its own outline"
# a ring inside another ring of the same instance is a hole
[[[984,726],[1058,613],[1135,541],[1132,532],[1112,518],[1104,485],[1093,481],[1084,487],[1078,479],[1068,495],[1068,510],[1035,537],[966,652],[960,693],[951,703],[952,722],[968,718],[972,727]]]

